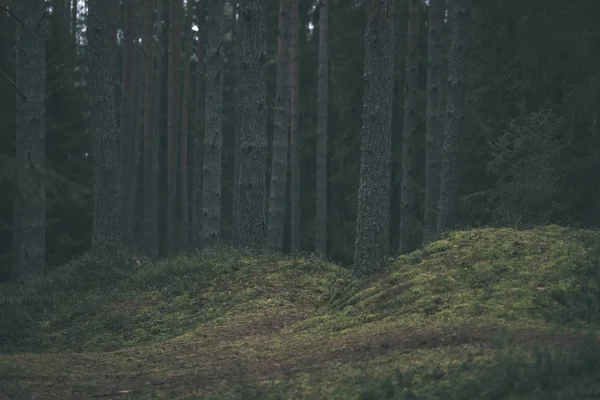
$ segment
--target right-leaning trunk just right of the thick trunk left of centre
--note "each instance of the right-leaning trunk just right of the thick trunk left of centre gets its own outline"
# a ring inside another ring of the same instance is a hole
[[[269,194],[268,247],[283,249],[290,134],[290,0],[279,0],[277,81]]]

